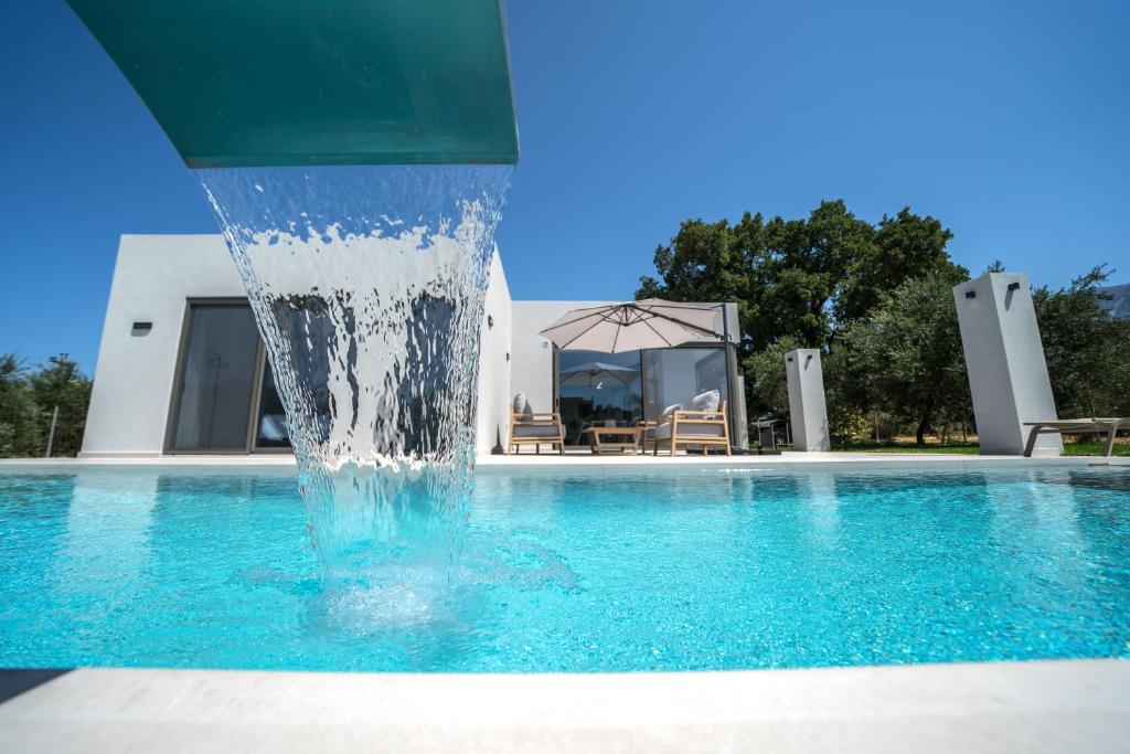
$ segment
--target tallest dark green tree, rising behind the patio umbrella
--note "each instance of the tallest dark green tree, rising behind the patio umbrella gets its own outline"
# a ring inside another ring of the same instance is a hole
[[[687,220],[655,250],[657,276],[640,279],[636,297],[737,302],[742,364],[785,340],[828,353],[836,329],[904,280],[932,270],[964,275],[946,251],[950,237],[940,222],[906,207],[873,226],[843,200],[823,201],[803,219],[746,213],[732,225]],[[747,380],[751,413],[776,400],[758,384],[767,383]]]

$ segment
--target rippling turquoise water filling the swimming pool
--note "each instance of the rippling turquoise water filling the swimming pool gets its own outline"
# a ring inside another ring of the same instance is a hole
[[[449,590],[323,591],[293,471],[0,469],[0,666],[1130,656],[1130,468],[481,473]]]

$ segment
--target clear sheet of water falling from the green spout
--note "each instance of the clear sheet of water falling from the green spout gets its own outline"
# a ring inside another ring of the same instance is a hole
[[[511,170],[197,171],[267,344],[329,584],[450,572]]]

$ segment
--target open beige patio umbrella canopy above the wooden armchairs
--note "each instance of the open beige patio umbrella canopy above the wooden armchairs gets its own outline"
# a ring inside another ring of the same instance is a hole
[[[714,304],[680,304],[645,298],[625,304],[574,309],[539,332],[562,350],[618,354],[670,348],[692,340],[720,340]]]

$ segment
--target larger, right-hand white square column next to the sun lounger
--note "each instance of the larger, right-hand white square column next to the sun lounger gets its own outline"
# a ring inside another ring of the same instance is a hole
[[[1019,456],[1024,423],[1057,418],[1028,276],[985,272],[956,286],[954,301],[981,453]],[[1045,434],[1033,454],[1062,452],[1062,439]]]

